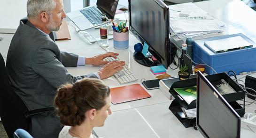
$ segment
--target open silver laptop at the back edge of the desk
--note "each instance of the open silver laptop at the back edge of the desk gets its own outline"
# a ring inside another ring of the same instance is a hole
[[[114,19],[118,0],[97,0],[95,6],[67,13],[67,16],[80,30],[91,29],[101,25],[101,13],[108,19]]]

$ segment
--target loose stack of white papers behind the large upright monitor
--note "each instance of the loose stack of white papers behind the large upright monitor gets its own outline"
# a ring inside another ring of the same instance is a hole
[[[171,5],[170,32],[174,39],[186,39],[225,30],[225,23],[209,15],[193,3]],[[189,12],[189,17],[179,17],[179,13]]]

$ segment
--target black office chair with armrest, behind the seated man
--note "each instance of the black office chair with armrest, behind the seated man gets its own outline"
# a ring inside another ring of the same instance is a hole
[[[14,131],[19,128],[30,132],[32,116],[55,111],[53,107],[28,110],[25,103],[9,84],[5,62],[1,53],[0,80],[0,118],[9,138],[13,138]]]

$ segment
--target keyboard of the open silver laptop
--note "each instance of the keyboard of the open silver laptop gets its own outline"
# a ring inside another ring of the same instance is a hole
[[[80,12],[93,24],[101,24],[101,13],[96,7],[88,7],[80,10]]]

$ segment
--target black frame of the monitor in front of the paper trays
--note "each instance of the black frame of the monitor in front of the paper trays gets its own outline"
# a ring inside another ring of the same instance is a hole
[[[217,91],[217,89],[210,83],[210,81],[200,72],[197,72],[197,79],[196,79],[196,87],[197,87],[197,98],[196,98],[196,128],[200,133],[203,135],[205,138],[209,138],[209,136],[206,134],[206,132],[202,129],[200,124],[198,123],[198,118],[199,118],[199,102],[200,102],[200,93],[198,92],[198,89],[200,87],[200,80],[202,79],[214,92],[217,94],[219,99],[226,105],[228,109],[233,113],[234,116],[236,116],[237,121],[238,121],[238,130],[237,130],[237,136],[240,138],[240,126],[241,126],[241,119],[240,116],[237,114],[237,112],[231,107],[231,105],[225,100],[225,98]]]

